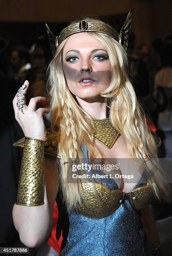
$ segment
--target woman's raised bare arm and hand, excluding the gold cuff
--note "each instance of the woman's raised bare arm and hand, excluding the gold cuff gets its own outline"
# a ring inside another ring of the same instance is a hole
[[[20,87],[20,90],[13,99],[15,119],[22,128],[25,137],[45,141],[46,127],[43,121],[43,114],[49,113],[49,110],[46,108],[37,109],[37,103],[45,100],[44,97],[31,98],[28,106],[25,104],[25,93],[28,87],[29,82],[26,80],[23,87]],[[22,110],[20,111],[20,109]],[[28,154],[28,151],[25,152]],[[42,153],[43,152],[41,152],[41,154]],[[25,166],[25,164],[23,166]],[[30,167],[28,166],[28,168]],[[41,172],[42,171],[43,168],[41,167]],[[22,173],[22,175],[25,174]],[[20,183],[20,185],[21,184],[22,183]],[[40,184],[42,183],[40,182]],[[38,186],[40,184],[38,184]],[[48,157],[45,161],[45,203],[37,206],[15,204],[13,207],[15,228],[18,230],[20,240],[28,247],[39,246],[46,239],[51,230],[53,205],[58,190],[57,184],[55,160]],[[41,193],[43,196],[43,191],[41,191]]]

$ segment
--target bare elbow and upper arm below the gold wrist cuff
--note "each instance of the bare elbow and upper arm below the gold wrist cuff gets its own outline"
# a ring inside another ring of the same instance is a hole
[[[13,206],[13,221],[20,240],[28,247],[39,246],[51,231],[53,205],[58,192],[56,159],[45,159],[45,204],[39,206]]]

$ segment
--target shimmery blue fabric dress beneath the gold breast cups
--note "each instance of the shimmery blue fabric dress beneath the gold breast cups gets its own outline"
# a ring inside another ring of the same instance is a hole
[[[81,149],[87,158],[86,147]],[[103,183],[109,189],[119,189],[115,181],[108,182],[108,179],[105,179]],[[144,185],[145,177],[142,177],[135,188]],[[63,213],[61,208],[59,215]],[[68,227],[63,228],[66,238],[63,237],[65,243],[62,243],[60,256],[153,255],[146,242],[139,212],[132,207],[129,200],[124,200],[117,210],[105,218],[91,219],[72,210],[64,222],[68,222]]]

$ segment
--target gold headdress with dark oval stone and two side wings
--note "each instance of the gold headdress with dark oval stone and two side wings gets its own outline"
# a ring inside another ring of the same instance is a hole
[[[113,37],[116,41],[118,41],[125,50],[127,50],[128,47],[128,41],[129,41],[129,34],[132,26],[132,9],[129,11],[129,14],[127,15],[126,21],[121,28],[120,33],[111,26],[109,26],[107,23],[101,23],[99,20],[97,22],[87,22],[86,20],[81,20],[77,23],[72,23],[71,25],[64,28],[59,36],[55,36],[51,30],[49,29],[48,25],[46,24],[46,29],[49,37],[49,42],[51,46],[51,51],[53,55],[56,52],[56,49],[58,46],[65,40],[68,36],[71,36],[76,33],[82,33],[82,32],[99,32],[104,33],[106,35],[109,35]]]

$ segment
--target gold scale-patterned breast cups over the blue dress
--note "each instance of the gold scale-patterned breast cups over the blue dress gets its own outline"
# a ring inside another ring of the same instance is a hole
[[[77,206],[78,212],[88,218],[104,218],[113,213],[122,202],[126,194],[119,189],[111,190],[101,183],[84,183],[82,202]],[[133,189],[130,193],[130,202],[135,210],[142,210],[153,199],[150,184]]]

